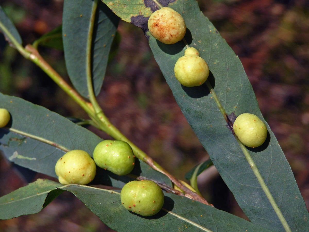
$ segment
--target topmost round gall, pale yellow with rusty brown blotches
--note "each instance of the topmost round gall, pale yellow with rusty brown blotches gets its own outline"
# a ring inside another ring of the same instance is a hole
[[[165,44],[175,44],[186,33],[182,16],[170,7],[153,12],[148,20],[148,29],[153,37]]]

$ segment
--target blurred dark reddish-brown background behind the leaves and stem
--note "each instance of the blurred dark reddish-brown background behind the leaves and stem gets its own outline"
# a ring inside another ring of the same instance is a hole
[[[260,109],[276,135],[309,207],[309,2],[199,0],[204,14],[239,56]],[[0,0],[24,45],[61,24],[63,0]],[[166,84],[142,30],[121,22],[119,47],[108,66],[99,103],[110,120],[159,164],[184,180],[208,158]],[[68,80],[63,52],[40,48]],[[0,35],[0,92],[63,116],[87,118],[81,108]],[[108,136],[89,128],[102,138]],[[172,165],[171,165],[172,164]],[[0,196],[43,177],[25,178],[0,156]],[[246,218],[214,168],[201,174],[200,191],[216,208]],[[86,206],[64,193],[40,213],[0,221],[0,231],[112,231]]]

